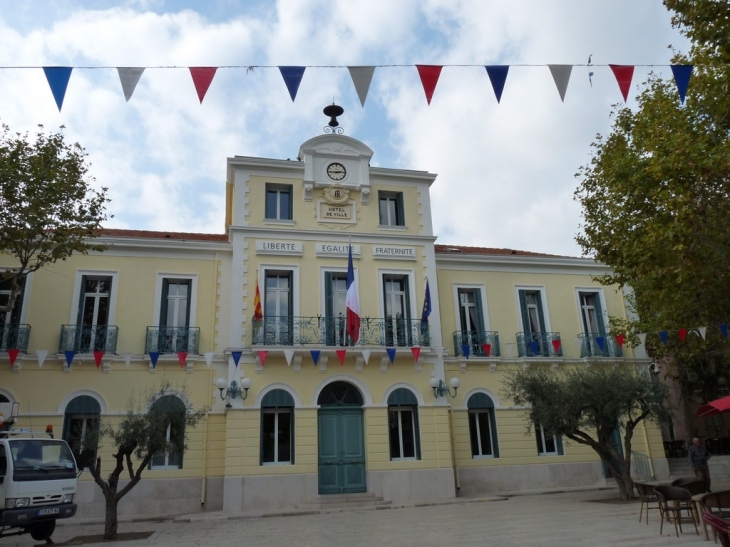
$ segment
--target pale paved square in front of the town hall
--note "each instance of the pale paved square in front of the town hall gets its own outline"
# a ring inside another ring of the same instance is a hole
[[[719,486],[719,485],[718,485]],[[697,536],[690,521],[677,538],[666,525],[659,535],[659,515],[639,523],[639,503],[618,502],[616,490],[460,500],[443,505],[332,513],[244,517],[213,513],[165,522],[122,523],[120,532],[151,531],[146,540],[120,547],[146,545],[207,547],[458,547],[560,545],[713,546]],[[79,544],[73,538],[100,534],[102,524],[58,526],[56,543]],[[30,536],[5,538],[0,546],[29,547]],[[87,543],[86,545],[99,545]]]

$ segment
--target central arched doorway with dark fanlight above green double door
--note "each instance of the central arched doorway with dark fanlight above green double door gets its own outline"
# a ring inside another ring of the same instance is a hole
[[[317,404],[319,493],[365,492],[362,394],[348,382],[333,382]]]

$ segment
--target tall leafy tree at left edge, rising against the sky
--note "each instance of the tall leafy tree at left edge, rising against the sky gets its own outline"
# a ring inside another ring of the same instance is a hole
[[[106,220],[106,188],[95,190],[86,152],[39,126],[34,138],[0,129],[0,253],[17,265],[4,271],[10,296],[0,312],[13,309],[30,272],[73,253],[102,250],[89,240]]]

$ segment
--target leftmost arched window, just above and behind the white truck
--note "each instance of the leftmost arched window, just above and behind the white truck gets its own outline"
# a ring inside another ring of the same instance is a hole
[[[79,469],[88,467],[96,458],[99,446],[99,401],[89,395],[74,397],[66,405],[63,416],[63,440],[68,443]]]

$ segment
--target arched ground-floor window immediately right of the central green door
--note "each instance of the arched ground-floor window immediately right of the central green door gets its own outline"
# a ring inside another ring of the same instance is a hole
[[[418,400],[412,391],[398,388],[388,397],[391,461],[420,460],[418,437]]]

